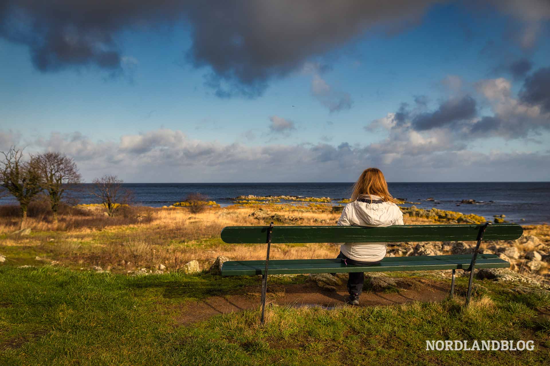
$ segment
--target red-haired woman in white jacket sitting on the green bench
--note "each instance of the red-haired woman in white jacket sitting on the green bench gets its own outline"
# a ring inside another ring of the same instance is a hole
[[[378,168],[365,169],[353,186],[351,202],[344,207],[338,225],[349,226],[390,226],[403,225],[403,213],[397,202],[388,192],[384,174]],[[386,243],[344,243],[340,254],[346,264],[371,266],[378,264],[386,255]],[[351,305],[359,305],[365,274],[350,272],[348,279]]]

